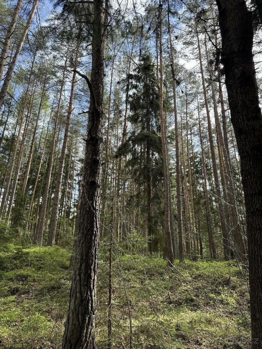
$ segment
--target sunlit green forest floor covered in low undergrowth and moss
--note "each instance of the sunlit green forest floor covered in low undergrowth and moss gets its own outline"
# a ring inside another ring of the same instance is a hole
[[[0,247],[0,348],[60,348],[70,291],[70,252],[59,247]],[[121,273],[122,269],[122,273]],[[108,261],[99,261],[96,341],[107,347]],[[115,348],[247,349],[248,286],[233,262],[124,255],[112,264]]]

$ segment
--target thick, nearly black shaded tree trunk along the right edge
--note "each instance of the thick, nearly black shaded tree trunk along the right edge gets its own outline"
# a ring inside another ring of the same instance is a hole
[[[262,348],[262,116],[252,54],[252,13],[246,2],[217,0],[221,63],[241,161],[245,195],[252,349]]]

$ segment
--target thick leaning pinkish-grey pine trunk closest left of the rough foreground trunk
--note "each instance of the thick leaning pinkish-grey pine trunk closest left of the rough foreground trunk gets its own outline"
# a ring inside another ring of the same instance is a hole
[[[77,47],[75,50],[74,70],[77,68],[77,65],[78,65],[79,47],[80,47],[80,41],[78,41],[78,44],[77,44]],[[51,214],[51,220],[50,220],[49,238],[48,238],[48,245],[49,246],[53,246],[55,241],[56,241],[58,208],[59,208],[59,200],[60,200],[60,193],[61,193],[62,176],[63,176],[63,170],[64,170],[64,165],[65,165],[65,153],[66,153],[66,146],[67,146],[67,141],[68,141],[70,120],[71,120],[71,115],[72,115],[72,111],[73,111],[75,80],[76,80],[76,72],[74,71],[73,76],[72,76],[72,82],[71,82],[71,92],[70,92],[70,99],[69,99],[69,105],[68,105],[68,110],[67,110],[64,141],[63,141],[63,146],[62,146],[61,155],[60,155],[60,159],[59,159],[57,181],[56,181],[56,190],[54,192],[54,202],[53,202],[53,208],[52,208],[52,214]]]

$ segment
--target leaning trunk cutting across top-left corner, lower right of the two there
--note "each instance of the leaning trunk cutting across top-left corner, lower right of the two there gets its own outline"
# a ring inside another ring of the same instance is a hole
[[[33,7],[32,7],[32,10],[30,12],[30,15],[29,15],[29,18],[27,20],[27,23],[25,25],[23,34],[22,34],[22,36],[21,36],[21,38],[19,40],[19,43],[17,44],[14,57],[13,57],[12,61],[10,62],[8,68],[7,68],[5,80],[4,80],[4,82],[2,84],[2,88],[0,90],[0,107],[3,104],[3,100],[4,100],[4,98],[5,98],[6,94],[7,94],[7,89],[8,89],[8,86],[9,86],[9,82],[10,82],[12,74],[14,72],[14,68],[15,68],[15,64],[16,64],[17,58],[19,57],[19,54],[20,54],[20,52],[22,50],[22,46],[23,46],[24,40],[26,39],[29,27],[30,27],[31,22],[32,22],[32,19],[33,19],[34,15],[35,15],[37,3],[38,3],[38,0],[34,0]]]

